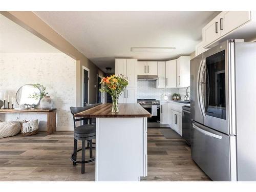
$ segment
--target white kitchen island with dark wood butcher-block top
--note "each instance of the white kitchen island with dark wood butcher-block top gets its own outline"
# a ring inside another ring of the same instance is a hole
[[[75,114],[96,118],[96,181],[140,181],[147,176],[147,117],[138,103],[104,103]]]

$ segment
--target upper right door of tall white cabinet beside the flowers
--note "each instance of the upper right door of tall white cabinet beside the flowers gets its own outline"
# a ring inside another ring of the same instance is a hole
[[[126,79],[127,87],[137,87],[137,59],[126,59]]]

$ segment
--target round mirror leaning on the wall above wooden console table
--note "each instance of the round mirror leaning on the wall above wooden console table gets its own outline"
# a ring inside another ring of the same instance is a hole
[[[18,89],[16,101],[19,105],[37,105],[40,101],[41,91],[33,84],[25,84]]]

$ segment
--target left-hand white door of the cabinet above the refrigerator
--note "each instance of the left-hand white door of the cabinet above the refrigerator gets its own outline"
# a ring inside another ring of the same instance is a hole
[[[202,30],[203,41],[206,45],[215,41],[221,36],[220,33],[220,15],[217,15],[212,19]]]

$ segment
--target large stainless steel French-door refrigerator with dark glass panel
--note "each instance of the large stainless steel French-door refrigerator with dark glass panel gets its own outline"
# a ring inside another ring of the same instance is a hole
[[[227,40],[190,61],[191,156],[214,181],[256,181],[256,43]]]

